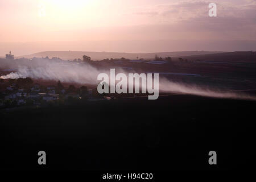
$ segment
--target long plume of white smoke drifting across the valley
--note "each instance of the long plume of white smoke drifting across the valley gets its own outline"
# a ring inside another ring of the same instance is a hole
[[[74,82],[77,84],[97,85],[97,76],[100,73],[109,73],[110,69],[97,69],[89,64],[77,64],[68,61],[51,61],[47,59],[29,61],[17,61],[15,65],[8,63],[7,67],[17,69],[17,72],[11,72],[9,75],[0,78],[26,78],[43,80],[60,80],[61,82]],[[5,65],[6,67],[6,65]],[[126,73],[122,69],[119,72]],[[126,73],[127,75],[128,73]],[[233,98],[241,100],[256,100],[256,97],[242,93],[223,92],[212,88],[203,88],[197,85],[182,84],[160,78],[159,91],[165,93],[183,93],[197,96],[216,97],[216,98]]]

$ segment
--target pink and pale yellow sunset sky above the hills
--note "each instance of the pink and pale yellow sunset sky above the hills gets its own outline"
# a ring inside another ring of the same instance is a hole
[[[1,0],[0,22],[0,56],[256,51],[256,0]]]

